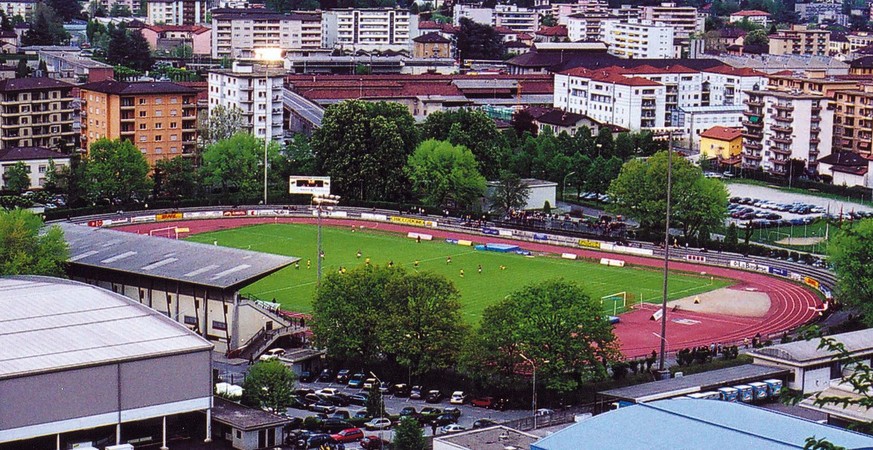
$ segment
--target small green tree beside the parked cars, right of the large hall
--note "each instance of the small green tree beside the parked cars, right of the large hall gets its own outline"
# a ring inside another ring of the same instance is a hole
[[[294,397],[297,376],[284,363],[273,359],[249,367],[243,381],[242,402],[255,408],[284,412]]]

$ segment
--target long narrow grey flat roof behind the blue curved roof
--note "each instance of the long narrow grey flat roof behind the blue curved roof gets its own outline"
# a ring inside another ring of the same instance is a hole
[[[778,367],[762,366],[758,364],[744,364],[742,366],[727,367],[725,369],[712,370],[709,372],[695,373],[679,378],[653,381],[651,383],[637,384],[618,389],[598,392],[599,395],[627,400],[635,403],[645,403],[693,392],[703,392],[722,386],[748,383],[764,378],[778,378],[787,375],[787,369]]]

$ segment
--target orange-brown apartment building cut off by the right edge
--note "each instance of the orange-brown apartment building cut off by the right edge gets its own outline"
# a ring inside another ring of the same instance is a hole
[[[873,85],[836,92],[834,151],[873,156]]]

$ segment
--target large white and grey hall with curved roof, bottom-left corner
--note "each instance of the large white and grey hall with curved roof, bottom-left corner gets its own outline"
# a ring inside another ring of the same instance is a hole
[[[206,412],[212,344],[102,288],[0,278],[0,447],[167,447],[180,417]],[[203,420],[203,416],[199,416]]]

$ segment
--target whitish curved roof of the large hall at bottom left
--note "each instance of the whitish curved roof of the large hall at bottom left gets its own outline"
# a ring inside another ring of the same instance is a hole
[[[212,349],[151,308],[59,278],[0,278],[0,311],[0,379]]]

